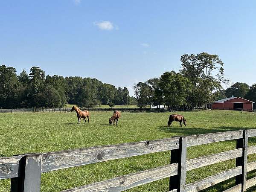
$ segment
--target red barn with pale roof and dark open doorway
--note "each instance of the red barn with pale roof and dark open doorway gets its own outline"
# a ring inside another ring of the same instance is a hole
[[[253,103],[241,97],[229,97],[212,103],[212,109],[253,111]]]

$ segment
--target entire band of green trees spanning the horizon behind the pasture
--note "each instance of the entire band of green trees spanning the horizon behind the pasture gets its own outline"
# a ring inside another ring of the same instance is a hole
[[[16,74],[14,67],[0,66],[0,108],[60,108],[65,104],[91,108],[96,105],[154,105],[168,109],[205,107],[226,97],[239,96],[256,102],[256,84],[231,81],[224,76],[224,63],[207,52],[184,54],[178,72],[165,72],[157,78],[134,84],[134,97],[127,87],[102,83],[95,78],[45,76],[40,67]],[[254,106],[255,108],[255,106]]]

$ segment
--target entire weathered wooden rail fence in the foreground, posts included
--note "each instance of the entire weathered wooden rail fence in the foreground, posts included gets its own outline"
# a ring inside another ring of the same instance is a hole
[[[247,163],[247,155],[256,153],[256,145],[248,147],[248,137],[256,130],[227,131],[187,137],[97,146],[69,151],[23,154],[0,158],[0,179],[11,178],[11,192],[39,192],[41,173],[91,163],[133,157],[161,151],[171,151],[171,163],[154,169],[124,175],[64,192],[124,191],[136,186],[169,177],[169,192],[198,192],[212,185],[236,178],[236,186],[226,192],[245,191],[256,184],[256,177],[247,180],[247,172],[256,169],[256,161]],[[236,149],[195,159],[186,159],[188,147],[236,140]],[[186,184],[186,172],[236,158],[236,167],[195,183]]]

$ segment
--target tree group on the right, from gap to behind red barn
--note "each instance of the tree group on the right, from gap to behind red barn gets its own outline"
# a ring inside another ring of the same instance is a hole
[[[224,76],[224,63],[218,55],[207,52],[185,54],[180,58],[180,70],[165,72],[159,78],[134,84],[134,95],[140,108],[154,105],[168,109],[205,107],[226,97],[240,96],[256,102],[256,84],[233,84]]]

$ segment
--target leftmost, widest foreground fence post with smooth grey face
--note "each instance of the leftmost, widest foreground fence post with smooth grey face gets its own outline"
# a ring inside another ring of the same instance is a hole
[[[40,192],[43,154],[28,154],[20,160],[19,177],[12,178],[11,192]]]

